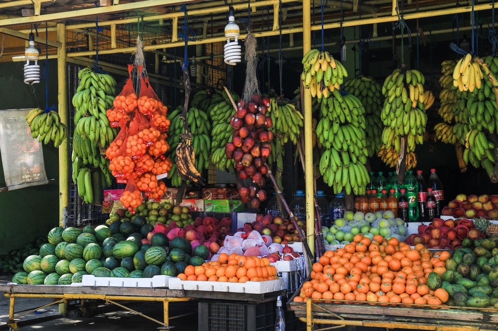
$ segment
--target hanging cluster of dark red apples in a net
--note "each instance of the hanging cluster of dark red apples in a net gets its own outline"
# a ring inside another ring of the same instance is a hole
[[[273,133],[268,131],[272,121],[266,116],[270,106],[270,99],[254,94],[246,103],[239,100],[237,111],[230,120],[234,128],[231,142],[225,145],[225,154],[228,160],[235,161],[235,169],[240,179],[251,179],[249,187],[241,187],[239,194],[244,203],[250,208],[258,209],[262,201],[266,200],[264,175],[268,173],[266,159],[271,153]]]

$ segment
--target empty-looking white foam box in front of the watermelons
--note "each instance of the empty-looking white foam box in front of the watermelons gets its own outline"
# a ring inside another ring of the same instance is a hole
[[[125,277],[95,277],[83,275],[81,286],[110,286],[110,287],[168,287],[171,276],[157,275],[152,278],[125,278]]]

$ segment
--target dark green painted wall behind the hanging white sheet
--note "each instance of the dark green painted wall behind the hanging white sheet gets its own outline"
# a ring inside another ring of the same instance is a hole
[[[43,66],[44,61],[39,61]],[[23,82],[23,62],[0,64],[0,109],[45,108],[45,81]],[[57,104],[57,63],[49,62],[49,106]],[[58,150],[43,146],[47,178],[55,182],[0,193],[0,254],[20,248],[59,223]],[[0,187],[5,186],[0,162]]]

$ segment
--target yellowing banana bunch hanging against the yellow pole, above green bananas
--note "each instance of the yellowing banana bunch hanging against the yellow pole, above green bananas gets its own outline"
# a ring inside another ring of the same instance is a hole
[[[346,68],[340,61],[334,59],[329,52],[312,49],[303,57],[304,70],[301,80],[305,88],[311,90],[311,96],[321,100],[328,98],[330,93],[338,89],[348,77]]]

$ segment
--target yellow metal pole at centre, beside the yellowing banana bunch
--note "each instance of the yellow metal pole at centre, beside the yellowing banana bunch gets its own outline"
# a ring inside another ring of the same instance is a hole
[[[311,49],[311,1],[303,0],[303,55]],[[315,210],[313,201],[313,129],[311,127],[311,91],[304,88],[304,179],[306,186],[306,236],[315,253]],[[312,256],[310,256],[312,258]]]

